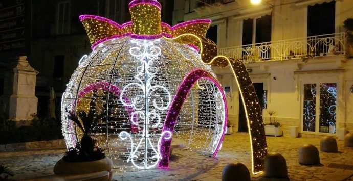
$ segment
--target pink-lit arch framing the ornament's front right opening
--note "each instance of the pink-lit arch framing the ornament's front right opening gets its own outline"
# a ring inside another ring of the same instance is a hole
[[[222,94],[223,103],[225,105],[225,122],[223,125],[223,132],[221,133],[222,135],[217,143],[217,147],[213,152],[213,155],[216,156],[216,154],[218,153],[218,150],[220,148],[220,145],[222,145],[224,135],[225,135],[226,129],[227,129],[227,121],[228,121],[227,101],[226,101],[226,96],[225,96],[220,84],[216,81],[216,79],[209,72],[207,72],[203,69],[195,69],[195,70],[191,71],[184,78],[183,82],[178,87],[177,93],[173,97],[171,105],[168,109],[168,113],[167,113],[167,116],[164,121],[162,133],[166,133],[166,132],[173,133],[174,126],[177,124],[179,113],[181,111],[181,108],[184,104],[184,101],[185,101],[189,91],[192,89],[192,86],[196,83],[196,81],[199,79],[202,79],[202,78],[212,81],[217,86],[220,93]],[[168,168],[168,166],[169,166],[171,140],[172,139],[165,138],[165,137],[163,137],[161,140],[161,143],[159,145],[159,148],[160,148],[159,150],[161,151],[162,158],[158,162],[159,168]]]

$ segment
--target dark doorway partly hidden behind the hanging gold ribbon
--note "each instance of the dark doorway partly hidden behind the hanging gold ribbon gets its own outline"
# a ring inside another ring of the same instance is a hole
[[[263,83],[253,83],[259,104],[261,107],[261,113],[263,108]],[[244,105],[242,104],[241,96],[239,95],[239,128],[238,132],[248,132],[248,123],[245,115]]]

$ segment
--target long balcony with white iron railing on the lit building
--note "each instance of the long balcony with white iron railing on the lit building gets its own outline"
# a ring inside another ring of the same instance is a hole
[[[256,43],[219,48],[218,54],[233,57],[244,63],[283,61],[344,55],[345,33]]]

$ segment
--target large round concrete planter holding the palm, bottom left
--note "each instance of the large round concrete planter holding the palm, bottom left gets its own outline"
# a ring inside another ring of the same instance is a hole
[[[67,162],[60,159],[54,166],[54,173],[56,175],[81,175],[87,173],[108,171],[109,180],[112,180],[112,168],[113,162],[107,157],[101,160],[89,162]]]

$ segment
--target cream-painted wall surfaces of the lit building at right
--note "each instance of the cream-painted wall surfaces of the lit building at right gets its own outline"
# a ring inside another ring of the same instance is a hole
[[[218,48],[241,45],[242,19],[254,18],[256,16],[251,14],[269,8],[272,8],[272,41],[306,37],[307,6],[311,5],[310,1],[275,0],[270,1],[274,5],[273,7],[263,5],[264,7],[261,7],[261,9],[250,5],[248,0],[239,0],[222,6],[198,8],[195,12],[186,10],[186,8],[191,8],[187,5],[189,1],[193,0],[180,1],[185,3],[185,20],[211,18],[212,21],[222,22],[218,24]],[[175,0],[175,2],[179,1]],[[182,9],[182,6],[176,7],[178,10]],[[249,16],[244,12],[247,12]],[[260,16],[261,13],[258,17]],[[353,2],[351,0],[336,1],[336,33],[344,32],[343,21],[349,17],[353,18]],[[336,80],[338,84],[336,125],[337,127],[347,127],[348,130],[353,131],[353,93],[349,91],[353,84],[352,59],[346,59],[344,56],[333,56],[309,59],[307,63],[297,59],[283,62],[250,63],[246,66],[253,70],[250,73],[252,81],[254,83],[263,82],[264,89],[268,90],[267,110],[276,111],[275,116],[283,124],[282,128],[285,135],[288,135],[289,126],[300,126],[299,130],[301,130],[301,89],[305,81],[330,82]],[[333,69],[344,69],[344,71],[328,71]],[[296,71],[301,71],[301,73],[295,73]],[[235,130],[237,130],[239,104],[237,84],[229,67],[224,69],[215,68],[215,72],[223,86],[231,86],[231,97],[227,98],[228,113],[230,121],[235,124]],[[273,77],[276,77],[276,80]],[[265,122],[269,118],[266,113],[267,110],[263,111]]]

